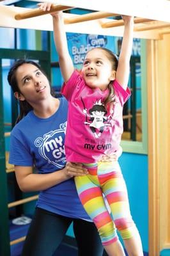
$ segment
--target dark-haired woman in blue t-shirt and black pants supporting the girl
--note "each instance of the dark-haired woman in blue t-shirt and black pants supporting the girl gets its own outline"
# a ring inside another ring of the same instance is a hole
[[[101,256],[97,228],[84,211],[72,179],[88,172],[82,164],[65,160],[65,98],[54,97],[47,76],[34,61],[16,61],[8,83],[20,105],[9,162],[15,166],[22,191],[40,191],[22,256],[53,255],[72,222],[79,255]]]

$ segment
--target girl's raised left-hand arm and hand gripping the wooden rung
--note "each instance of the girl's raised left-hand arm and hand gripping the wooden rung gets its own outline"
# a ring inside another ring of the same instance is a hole
[[[38,6],[44,11],[49,11],[52,3],[41,3]],[[74,67],[72,58],[68,52],[63,13],[55,12],[51,13],[51,15],[53,19],[54,42],[59,56],[59,67],[64,81],[67,82],[70,76],[72,76]]]

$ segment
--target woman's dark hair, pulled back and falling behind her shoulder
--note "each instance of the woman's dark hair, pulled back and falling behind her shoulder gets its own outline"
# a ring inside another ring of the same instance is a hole
[[[10,84],[10,86],[12,87],[13,93],[18,92],[20,93],[19,90],[19,85],[17,82],[17,77],[16,77],[16,72],[17,69],[24,65],[24,64],[32,64],[35,67],[37,67],[38,69],[41,70],[41,72],[47,77],[47,75],[45,74],[45,72],[42,70],[42,68],[40,67],[40,65],[38,65],[38,63],[36,63],[35,61],[32,60],[17,60],[13,63],[12,67],[10,68],[9,72],[8,72],[8,83]],[[49,83],[50,84],[50,83]],[[56,93],[54,92],[54,90],[52,89],[52,86],[50,85],[50,93],[52,96],[55,97]],[[16,120],[16,124],[24,117],[27,115],[27,113],[29,111],[31,111],[33,109],[33,107],[26,101],[21,101],[19,100],[19,116],[17,117]]]

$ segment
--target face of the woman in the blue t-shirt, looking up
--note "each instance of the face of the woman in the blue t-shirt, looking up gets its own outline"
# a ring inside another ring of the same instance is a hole
[[[15,92],[19,100],[27,100],[30,104],[46,99],[50,95],[50,85],[47,77],[38,67],[24,63],[16,71],[20,93]]]

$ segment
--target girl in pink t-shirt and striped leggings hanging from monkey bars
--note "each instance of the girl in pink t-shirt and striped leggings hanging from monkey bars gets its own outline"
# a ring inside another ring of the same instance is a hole
[[[50,6],[50,3],[40,4],[42,10],[50,10]],[[125,181],[118,161],[111,157],[120,151],[123,104],[130,96],[127,84],[133,17],[123,15],[125,31],[119,60],[107,49],[94,48],[86,54],[81,73],[74,70],[68,52],[62,13],[53,13],[52,17],[54,41],[65,81],[61,92],[68,99],[66,159],[83,163],[88,169],[88,175],[75,177],[79,198],[97,226],[109,256],[125,255],[116,228],[128,255],[142,256],[141,239],[130,214]],[[105,207],[103,194],[111,214]]]

